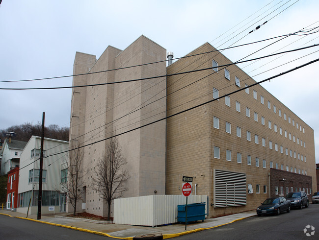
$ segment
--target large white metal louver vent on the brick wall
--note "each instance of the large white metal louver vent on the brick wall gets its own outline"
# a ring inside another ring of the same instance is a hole
[[[214,208],[246,205],[246,173],[214,169]]]

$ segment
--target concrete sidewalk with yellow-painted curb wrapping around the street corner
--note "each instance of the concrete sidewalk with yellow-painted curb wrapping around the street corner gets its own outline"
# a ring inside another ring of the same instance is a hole
[[[25,214],[12,212],[10,210],[0,210],[0,214],[19,218],[26,217]],[[187,231],[185,231],[185,224],[179,223],[159,227],[143,227],[122,224],[98,224],[92,222],[85,222],[80,219],[73,219],[71,217],[60,218],[54,216],[41,216],[41,220],[36,220],[36,215],[29,215],[27,219],[41,221],[47,224],[57,225],[61,227],[73,228],[81,231],[83,231],[84,229],[86,232],[122,239],[137,239],[138,236],[141,235],[147,235],[149,237],[162,235],[162,239],[168,239],[225,225],[255,215],[256,211],[253,210],[229,216],[207,218],[204,220],[204,222],[189,223],[187,225]]]

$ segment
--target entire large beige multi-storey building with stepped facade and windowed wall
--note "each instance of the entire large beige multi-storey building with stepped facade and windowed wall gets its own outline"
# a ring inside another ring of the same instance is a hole
[[[92,189],[94,168],[107,141],[95,142],[112,131],[128,131],[255,83],[236,65],[218,67],[231,61],[214,50],[206,43],[188,56],[208,53],[182,58],[167,68],[158,62],[166,59],[166,50],[144,36],[124,50],[107,47],[99,60],[76,53],[74,74],[104,71],[73,79],[73,86],[90,85],[74,88],[70,124],[70,139],[90,144],[84,148],[87,212],[105,215],[107,210]],[[143,65],[152,62],[158,63]],[[135,65],[142,66],[127,68]],[[211,69],[94,86],[205,68]],[[119,70],[105,72],[113,69]],[[260,85],[118,140],[131,175],[125,197],[181,194],[182,176],[193,176],[193,194],[196,189],[196,194],[209,196],[212,217],[255,209],[271,192],[285,195],[291,187],[316,191],[313,129]],[[278,172],[272,177],[270,168],[283,170],[282,177],[274,179]],[[294,182],[292,173],[312,178]]]

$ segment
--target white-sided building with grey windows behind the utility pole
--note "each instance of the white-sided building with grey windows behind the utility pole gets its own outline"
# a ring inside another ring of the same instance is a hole
[[[20,156],[20,176],[17,212],[26,213],[30,199],[29,214],[37,213],[41,138],[32,136]],[[44,139],[42,176],[42,214],[55,206],[60,211],[61,165],[68,160],[69,143]],[[60,153],[60,154],[59,154]]]

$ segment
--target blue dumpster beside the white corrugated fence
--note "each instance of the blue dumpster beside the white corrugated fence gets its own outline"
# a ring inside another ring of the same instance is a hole
[[[186,221],[186,204],[177,205],[178,221]],[[187,204],[187,223],[205,219],[205,202]],[[186,224],[187,224],[186,223]]]

